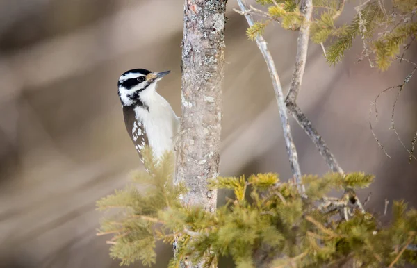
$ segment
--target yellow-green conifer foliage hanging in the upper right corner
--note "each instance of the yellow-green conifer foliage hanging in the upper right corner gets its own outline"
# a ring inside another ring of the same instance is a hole
[[[336,26],[336,19],[343,11],[341,0],[314,0],[316,8],[311,22],[311,40],[316,44],[329,42],[325,56],[329,64],[336,64],[345,56],[358,37],[363,42],[362,58],[368,58],[370,65],[376,63],[381,70],[391,66],[395,57],[407,51],[416,37],[416,22],[412,17],[417,11],[415,0],[391,0],[393,9],[387,11],[382,1],[370,0],[357,6],[357,13],[350,24]],[[255,22],[247,29],[247,36],[254,40],[263,35],[265,28],[277,21],[282,28],[296,31],[303,23],[300,6],[295,0],[258,0],[261,6],[268,9],[270,19]],[[256,15],[256,12],[254,12]],[[324,46],[323,46],[324,47]]]

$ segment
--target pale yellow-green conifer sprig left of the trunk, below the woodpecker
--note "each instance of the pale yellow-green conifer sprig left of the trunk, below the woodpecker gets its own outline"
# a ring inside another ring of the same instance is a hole
[[[119,259],[121,265],[129,265],[136,260],[148,266],[156,262],[156,240],[172,241],[172,235],[167,233],[158,214],[166,208],[180,208],[179,196],[186,193],[183,184],[172,184],[172,152],[165,153],[156,162],[152,149],[145,147],[142,156],[145,169],[149,172],[135,172],[131,185],[97,201],[99,210],[119,210],[117,215],[101,223],[97,235],[113,235],[108,241],[111,244],[110,255]],[[141,191],[138,184],[149,187]],[[156,228],[157,224],[163,225]]]

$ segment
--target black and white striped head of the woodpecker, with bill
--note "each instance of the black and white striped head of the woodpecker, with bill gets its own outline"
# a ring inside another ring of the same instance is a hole
[[[156,83],[171,71],[154,73],[147,69],[131,69],[124,72],[117,83],[119,97],[123,106],[132,106],[141,103],[140,94],[155,90]]]

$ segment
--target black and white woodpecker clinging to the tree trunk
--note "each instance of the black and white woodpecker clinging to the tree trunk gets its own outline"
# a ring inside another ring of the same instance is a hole
[[[156,92],[156,83],[169,73],[131,69],[117,83],[124,124],[142,162],[141,150],[145,145],[152,148],[158,160],[165,151],[173,149],[173,138],[179,131],[179,117]]]

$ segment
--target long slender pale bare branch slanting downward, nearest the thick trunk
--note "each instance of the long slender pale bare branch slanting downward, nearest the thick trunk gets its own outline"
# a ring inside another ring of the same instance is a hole
[[[311,3],[311,0],[308,0],[308,1]],[[238,0],[238,5],[240,7],[240,10],[242,10],[243,15],[245,15],[247,24],[249,24],[249,26],[253,26],[254,19],[252,18],[252,15],[247,12],[247,6],[245,3],[245,0]],[[288,122],[288,115],[287,115],[286,105],[284,101],[284,94],[282,92],[281,82],[279,81],[277,69],[275,68],[274,60],[272,59],[270,51],[268,50],[267,44],[265,40],[263,39],[262,35],[256,35],[255,40],[256,40],[256,44],[259,47],[259,50],[261,51],[263,55],[263,58],[265,59],[266,64],[268,65],[268,70],[270,73],[270,77],[272,79],[272,85],[274,86],[275,97],[277,99],[279,115],[281,117],[281,124],[284,130],[284,139],[286,143],[288,158],[290,160],[291,170],[293,171],[293,176],[297,183],[297,188],[300,194],[304,194],[305,188],[301,182],[301,171],[300,171],[300,165],[298,163],[297,149],[295,149],[295,144],[293,142],[293,137],[291,135],[291,128]]]

